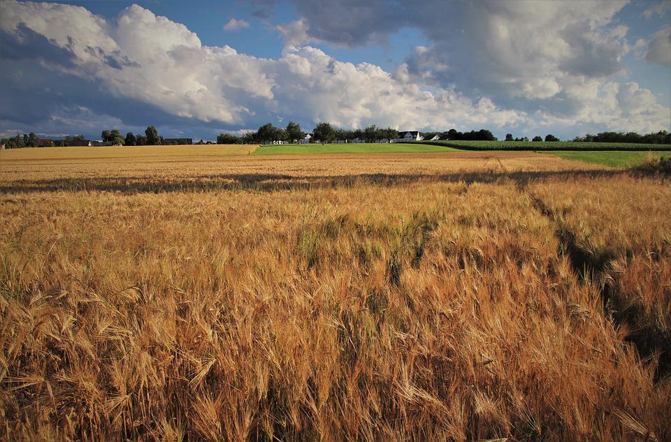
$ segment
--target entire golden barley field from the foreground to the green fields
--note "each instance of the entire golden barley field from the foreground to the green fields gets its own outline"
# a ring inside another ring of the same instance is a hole
[[[668,177],[217,148],[0,152],[2,439],[671,439]]]

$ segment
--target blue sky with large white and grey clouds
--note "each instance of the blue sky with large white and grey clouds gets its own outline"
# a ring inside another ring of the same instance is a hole
[[[0,136],[671,131],[671,0],[0,0]]]

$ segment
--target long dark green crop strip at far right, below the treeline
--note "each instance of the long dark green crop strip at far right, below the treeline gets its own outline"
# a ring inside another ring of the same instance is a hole
[[[573,141],[421,141],[421,145],[447,146],[467,150],[593,150],[593,151],[671,151],[671,145],[649,145],[635,142],[573,142]]]

